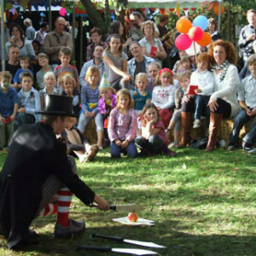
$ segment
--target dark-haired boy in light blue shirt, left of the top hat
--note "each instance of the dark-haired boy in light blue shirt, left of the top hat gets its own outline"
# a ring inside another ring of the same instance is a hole
[[[25,72],[20,74],[21,90],[18,93],[19,109],[15,119],[15,130],[23,124],[33,124],[40,121],[41,111],[40,95],[38,90],[32,87],[32,73]]]

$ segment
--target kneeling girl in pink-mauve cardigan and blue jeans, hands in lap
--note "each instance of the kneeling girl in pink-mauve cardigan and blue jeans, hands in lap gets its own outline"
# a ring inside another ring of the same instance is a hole
[[[111,156],[119,158],[121,152],[137,157],[134,139],[137,134],[137,114],[131,108],[131,94],[122,89],[117,93],[117,106],[110,112],[108,137],[111,141]]]

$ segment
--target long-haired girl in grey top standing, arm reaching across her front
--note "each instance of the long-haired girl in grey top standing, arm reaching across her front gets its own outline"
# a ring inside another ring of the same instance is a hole
[[[131,80],[131,75],[127,73],[127,59],[127,55],[123,52],[120,36],[118,34],[111,35],[103,53],[103,60],[109,83],[115,90],[127,87]]]

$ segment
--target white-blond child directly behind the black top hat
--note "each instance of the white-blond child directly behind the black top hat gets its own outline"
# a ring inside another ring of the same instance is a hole
[[[40,100],[41,100],[41,109],[45,107],[45,96],[48,94],[58,95],[58,91],[55,88],[56,80],[55,74],[53,72],[48,72],[44,75],[44,84],[45,87],[43,90],[39,90]]]

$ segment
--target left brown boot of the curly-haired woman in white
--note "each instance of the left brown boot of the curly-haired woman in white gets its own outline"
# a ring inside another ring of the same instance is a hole
[[[181,143],[177,145],[177,148],[185,148],[190,142],[190,131],[192,124],[192,113],[191,112],[182,112],[182,138]]]

